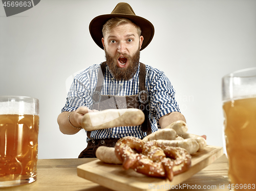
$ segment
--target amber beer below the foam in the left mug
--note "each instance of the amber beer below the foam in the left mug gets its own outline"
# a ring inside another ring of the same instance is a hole
[[[0,181],[36,177],[38,115],[0,115]]]

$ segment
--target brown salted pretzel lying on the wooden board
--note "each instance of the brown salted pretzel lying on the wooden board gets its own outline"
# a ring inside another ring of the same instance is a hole
[[[152,177],[167,177],[180,174],[191,165],[191,156],[183,148],[164,146],[155,140],[144,143],[141,139],[126,136],[119,139],[115,154],[123,168]]]

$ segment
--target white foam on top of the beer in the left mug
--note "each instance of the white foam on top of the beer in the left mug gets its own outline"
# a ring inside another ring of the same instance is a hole
[[[0,115],[3,114],[27,114],[39,115],[39,109],[35,108],[34,103],[27,102],[0,102]]]

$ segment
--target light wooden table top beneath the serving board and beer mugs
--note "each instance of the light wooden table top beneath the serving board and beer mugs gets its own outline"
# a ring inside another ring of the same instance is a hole
[[[93,161],[95,158],[84,159],[39,159],[37,162],[37,180],[33,183],[0,190],[13,191],[91,191],[111,190],[77,176],[77,166]],[[214,163],[184,181],[180,190],[229,190],[228,186],[228,161],[225,155],[221,156]],[[167,185],[165,185],[167,186]],[[176,186],[178,188],[178,186]],[[178,188],[178,189],[179,189]],[[152,190],[161,190],[155,188]],[[172,189],[177,190],[177,189]]]

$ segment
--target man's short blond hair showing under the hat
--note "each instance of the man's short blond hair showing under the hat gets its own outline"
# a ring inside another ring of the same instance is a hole
[[[122,18],[122,17],[114,17],[106,21],[106,23],[103,25],[103,28],[102,28],[103,37],[105,36],[106,33],[109,33],[114,27],[117,27],[125,23],[131,23],[137,29],[138,35],[139,36],[141,35],[140,27],[132,20],[127,18]]]

